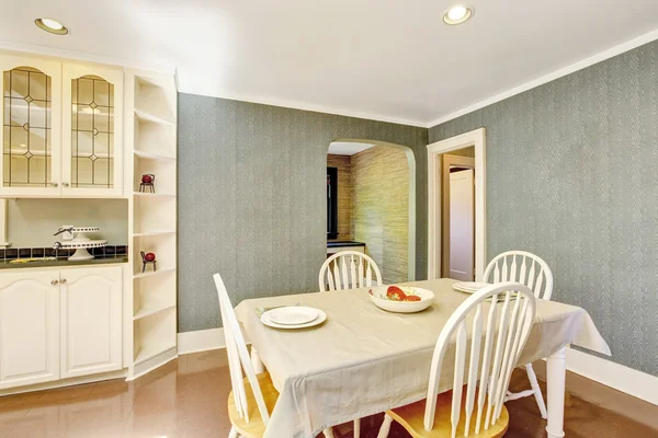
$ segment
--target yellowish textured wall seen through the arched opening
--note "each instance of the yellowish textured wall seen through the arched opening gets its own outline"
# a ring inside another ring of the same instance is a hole
[[[366,244],[384,284],[408,279],[409,165],[400,149],[376,146],[355,153],[352,237]]]

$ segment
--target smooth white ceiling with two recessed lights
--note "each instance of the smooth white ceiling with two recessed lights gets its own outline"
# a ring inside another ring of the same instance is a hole
[[[474,18],[447,26],[447,0],[3,0],[0,46],[177,68],[184,92],[427,126],[658,28],[656,0],[470,3]],[[39,31],[42,16],[70,34]]]

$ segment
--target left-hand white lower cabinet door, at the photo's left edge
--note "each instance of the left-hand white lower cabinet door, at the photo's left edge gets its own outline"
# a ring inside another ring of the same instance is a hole
[[[59,379],[58,278],[0,274],[0,389]]]

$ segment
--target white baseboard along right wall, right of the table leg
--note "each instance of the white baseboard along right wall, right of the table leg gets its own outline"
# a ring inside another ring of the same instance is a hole
[[[571,348],[567,348],[567,369],[658,405],[658,377]]]

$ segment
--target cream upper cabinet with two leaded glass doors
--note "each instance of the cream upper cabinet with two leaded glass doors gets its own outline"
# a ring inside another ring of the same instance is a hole
[[[123,195],[123,70],[0,55],[0,196]]]

